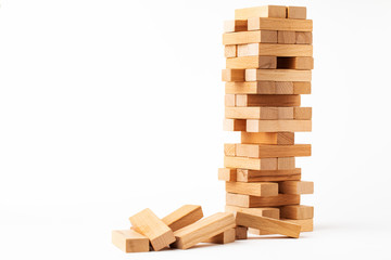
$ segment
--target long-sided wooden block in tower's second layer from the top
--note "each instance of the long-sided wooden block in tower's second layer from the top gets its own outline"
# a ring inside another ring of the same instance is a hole
[[[248,30],[294,30],[312,31],[312,20],[262,18],[248,20]],[[245,43],[245,42],[243,42]],[[247,42],[250,43],[250,42]]]

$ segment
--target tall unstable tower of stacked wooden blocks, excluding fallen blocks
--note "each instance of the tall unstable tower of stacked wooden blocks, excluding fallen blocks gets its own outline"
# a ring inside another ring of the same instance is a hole
[[[224,130],[241,132],[240,143],[225,144],[218,171],[226,211],[287,220],[302,232],[313,230],[314,208],[300,196],[314,184],[295,166],[311,144],[295,144],[294,132],[312,130],[312,108],[301,107],[301,94],[311,93],[312,29],[306,8],[268,5],[236,10],[223,35]]]

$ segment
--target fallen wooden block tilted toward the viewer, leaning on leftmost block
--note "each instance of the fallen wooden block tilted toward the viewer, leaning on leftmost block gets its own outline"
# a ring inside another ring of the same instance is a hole
[[[129,220],[137,231],[150,239],[155,251],[175,242],[173,231],[148,208],[134,214]]]

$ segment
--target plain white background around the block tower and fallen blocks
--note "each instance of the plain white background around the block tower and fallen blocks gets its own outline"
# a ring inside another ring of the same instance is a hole
[[[224,209],[222,27],[237,8],[314,20],[316,193],[300,239],[125,255],[111,230],[149,207]],[[2,0],[1,259],[390,259],[389,1]]]

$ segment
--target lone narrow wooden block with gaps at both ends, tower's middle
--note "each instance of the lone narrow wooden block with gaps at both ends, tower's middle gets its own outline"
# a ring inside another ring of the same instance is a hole
[[[294,132],[241,132],[243,144],[294,144]]]

